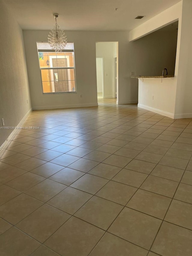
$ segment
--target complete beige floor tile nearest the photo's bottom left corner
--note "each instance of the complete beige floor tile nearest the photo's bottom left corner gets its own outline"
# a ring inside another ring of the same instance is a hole
[[[44,204],[20,221],[16,227],[43,243],[69,218],[67,213]]]

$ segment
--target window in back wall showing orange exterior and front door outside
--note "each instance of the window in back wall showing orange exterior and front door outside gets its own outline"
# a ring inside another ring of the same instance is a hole
[[[37,42],[43,93],[74,93],[75,62],[73,43],[55,53],[47,42]]]

